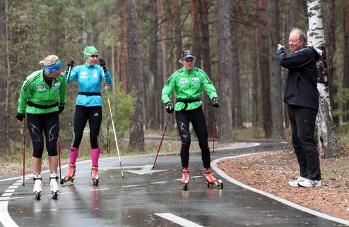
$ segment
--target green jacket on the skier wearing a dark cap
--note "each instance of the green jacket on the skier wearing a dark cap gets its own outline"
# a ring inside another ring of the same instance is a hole
[[[201,99],[203,88],[210,99],[218,98],[212,81],[203,70],[200,68],[192,68],[191,70],[181,68],[167,80],[162,88],[161,100],[164,104],[170,102],[170,95],[173,90],[175,90],[176,99]],[[201,100],[188,103],[186,110],[196,109],[201,104]],[[185,104],[183,102],[176,102],[175,111],[181,111],[184,107]]]

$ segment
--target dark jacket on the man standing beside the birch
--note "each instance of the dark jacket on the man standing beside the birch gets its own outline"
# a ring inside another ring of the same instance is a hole
[[[277,51],[280,65],[288,68],[285,96],[283,102],[288,105],[319,109],[319,91],[317,90],[317,60],[320,54],[314,47],[305,46],[295,53]]]

